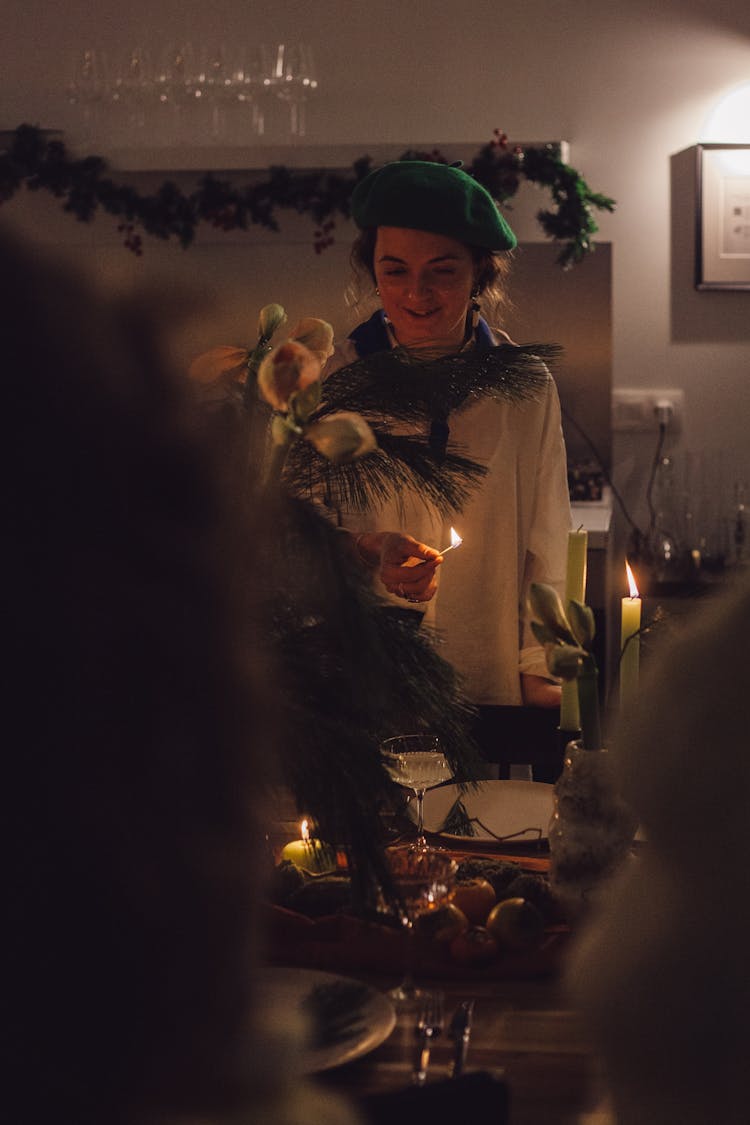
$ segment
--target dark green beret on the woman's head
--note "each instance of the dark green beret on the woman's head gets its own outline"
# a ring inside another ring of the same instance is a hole
[[[513,250],[516,236],[481,183],[460,168],[397,160],[361,180],[351,200],[362,230],[405,226],[431,231],[485,250]]]

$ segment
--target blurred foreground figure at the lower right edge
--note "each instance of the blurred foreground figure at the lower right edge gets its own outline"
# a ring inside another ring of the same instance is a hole
[[[660,654],[618,738],[648,844],[578,943],[569,983],[618,1125],[749,1118],[750,586]]]

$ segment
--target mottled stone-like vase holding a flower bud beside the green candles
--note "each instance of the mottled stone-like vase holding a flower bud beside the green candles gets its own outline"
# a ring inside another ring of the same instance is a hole
[[[636,827],[620,796],[609,753],[569,742],[549,829],[550,884],[569,917],[596,901],[631,854]]]

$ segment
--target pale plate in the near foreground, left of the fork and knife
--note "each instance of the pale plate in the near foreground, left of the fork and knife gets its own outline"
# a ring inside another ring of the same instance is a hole
[[[301,1029],[306,1025],[305,1001],[320,986],[354,983],[352,978],[338,976],[336,973],[324,973],[317,969],[286,969],[273,965],[262,970],[260,979],[259,1005],[266,1007],[278,1020],[280,1014],[288,1015],[288,1024],[297,1024]],[[360,1055],[374,1051],[388,1038],[396,1025],[396,1011],[387,996],[365,986],[364,1002],[358,1009],[356,1025],[352,1035],[340,1043],[331,1043],[319,1047],[305,1047],[296,1062],[296,1070],[305,1074],[315,1074],[332,1066],[359,1059]]]

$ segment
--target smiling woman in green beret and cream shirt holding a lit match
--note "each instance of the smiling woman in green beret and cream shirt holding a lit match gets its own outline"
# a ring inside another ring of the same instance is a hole
[[[479,303],[497,296],[516,238],[479,183],[459,168],[398,161],[358,184],[352,216],[361,231],[353,262],[382,307],[336,349],[326,376],[389,348],[466,356],[467,369],[472,356],[496,351],[500,372],[504,358],[513,366],[522,350],[489,327]],[[532,397],[467,394],[422,426],[431,446],[450,442],[486,467],[459,512],[445,519],[414,489],[365,514],[340,513],[376,587],[435,627],[480,706],[553,708],[560,698],[525,610],[531,582],[562,588],[570,528],[557,389],[531,359]],[[394,418],[390,429],[408,426]],[[451,523],[463,543],[443,559]]]

